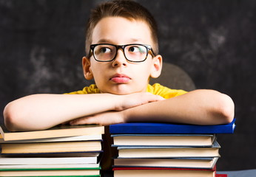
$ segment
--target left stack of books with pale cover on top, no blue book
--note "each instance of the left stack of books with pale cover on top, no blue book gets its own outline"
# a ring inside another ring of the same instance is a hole
[[[0,132],[0,176],[101,176],[104,126]]]

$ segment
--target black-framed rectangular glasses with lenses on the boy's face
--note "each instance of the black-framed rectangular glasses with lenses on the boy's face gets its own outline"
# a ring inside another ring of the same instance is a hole
[[[92,44],[90,49],[95,60],[99,62],[114,60],[118,49],[123,50],[124,57],[130,62],[143,62],[146,60],[147,55],[149,55],[149,51],[155,57],[152,47],[146,44],[127,44],[121,46],[114,44]]]

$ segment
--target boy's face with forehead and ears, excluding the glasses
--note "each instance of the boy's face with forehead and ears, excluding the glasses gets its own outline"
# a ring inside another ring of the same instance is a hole
[[[122,17],[101,19],[92,32],[92,44],[148,44],[153,45],[151,32],[144,21]],[[93,55],[83,58],[84,76],[94,78],[102,93],[132,94],[146,91],[149,77],[161,74],[161,55],[147,56],[140,63],[129,62],[122,49],[118,49],[114,60],[98,62]]]

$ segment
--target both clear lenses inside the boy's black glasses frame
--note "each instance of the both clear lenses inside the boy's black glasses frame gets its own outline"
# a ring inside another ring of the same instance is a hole
[[[96,60],[109,61],[115,58],[117,48],[108,44],[95,46],[94,57]],[[124,47],[124,56],[130,61],[142,61],[146,59],[147,49],[142,45],[128,45]]]

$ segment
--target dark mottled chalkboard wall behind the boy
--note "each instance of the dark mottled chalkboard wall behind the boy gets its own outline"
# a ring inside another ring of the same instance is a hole
[[[101,1],[0,0],[0,106],[81,89],[84,26]],[[198,89],[235,101],[235,134],[219,135],[218,170],[256,168],[256,1],[139,0],[159,25],[160,52]]]

